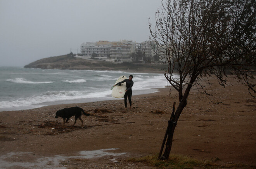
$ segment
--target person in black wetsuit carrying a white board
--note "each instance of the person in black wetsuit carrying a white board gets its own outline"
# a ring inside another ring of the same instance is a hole
[[[128,100],[130,103],[130,109],[131,109],[131,95],[132,95],[132,91],[131,91],[131,87],[133,86],[133,81],[132,81],[133,76],[130,75],[129,79],[125,79],[119,83],[116,83],[116,85],[121,85],[122,83],[126,82],[126,90],[125,90],[125,107],[127,108],[127,96],[128,96]],[[116,86],[114,85],[114,86]]]

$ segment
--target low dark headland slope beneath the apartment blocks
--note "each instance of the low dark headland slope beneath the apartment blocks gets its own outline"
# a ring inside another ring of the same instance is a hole
[[[78,70],[130,70],[130,71],[157,71],[164,72],[165,64],[135,64],[130,62],[107,62],[102,60],[88,60],[74,57],[73,53],[67,55],[48,57],[32,62],[24,68],[40,69],[78,69]]]

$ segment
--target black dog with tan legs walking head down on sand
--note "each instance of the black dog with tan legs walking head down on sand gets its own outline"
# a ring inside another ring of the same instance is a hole
[[[67,119],[66,123],[68,123],[67,121],[70,119],[70,117],[75,116],[74,124],[76,124],[76,120],[78,118],[82,122],[82,127],[83,127],[83,120],[81,119],[82,112],[85,116],[90,115],[88,113],[85,113],[85,111],[80,107],[71,107],[71,108],[65,108],[65,109],[58,110],[56,112],[55,118],[57,119],[58,117],[62,117],[63,118],[63,126],[64,126],[65,119]],[[73,124],[73,126],[74,126],[74,124]]]

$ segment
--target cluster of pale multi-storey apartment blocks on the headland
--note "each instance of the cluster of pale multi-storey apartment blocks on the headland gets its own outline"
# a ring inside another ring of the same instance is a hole
[[[80,57],[83,59],[98,59],[110,62],[138,62],[145,60],[158,62],[156,43],[144,41],[136,43],[131,40],[97,41],[82,43]]]

